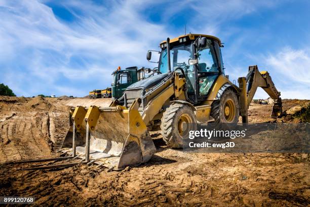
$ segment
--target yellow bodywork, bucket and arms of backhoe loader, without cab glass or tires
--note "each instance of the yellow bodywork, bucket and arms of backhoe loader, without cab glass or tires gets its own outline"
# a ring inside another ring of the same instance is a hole
[[[218,38],[199,34],[187,34],[172,39],[171,42],[177,42],[183,37],[195,40],[197,36],[212,38],[221,45]],[[167,42],[163,41],[161,47],[163,44]],[[186,78],[178,72],[170,72],[162,82],[147,89],[143,97],[134,97],[130,104],[125,100],[125,103],[120,105],[119,100],[113,100],[109,107],[105,108],[71,108],[70,129],[62,148],[71,150],[73,155],[82,156],[86,162],[96,160],[114,168],[147,162],[156,152],[149,130],[156,129],[165,109],[174,103],[186,105],[195,114],[195,123],[213,122],[214,117],[210,115],[212,103],[221,98],[226,88],[238,96],[239,106],[236,107],[240,109],[238,116],[242,116],[243,122],[247,122],[248,106],[257,87],[262,87],[276,100],[272,117],[281,116],[280,92],[267,72],[259,73],[257,65],[250,66],[248,76],[239,78],[238,82],[239,86],[236,86],[224,75],[218,75],[205,99],[192,104],[186,94]]]

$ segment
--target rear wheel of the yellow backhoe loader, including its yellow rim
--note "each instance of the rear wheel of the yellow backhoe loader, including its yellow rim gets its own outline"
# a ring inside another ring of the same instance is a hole
[[[213,101],[211,105],[211,116],[215,123],[238,123],[239,101],[236,93],[226,89],[220,100]]]

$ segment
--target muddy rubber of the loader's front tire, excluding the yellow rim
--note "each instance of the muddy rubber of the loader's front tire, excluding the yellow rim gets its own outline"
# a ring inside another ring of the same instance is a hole
[[[190,117],[192,124],[189,125],[186,134],[181,136],[178,131],[178,121],[181,115]],[[163,140],[172,148],[183,148],[184,139],[188,139],[189,130],[196,130],[197,120],[193,110],[181,103],[172,103],[163,114],[161,130]]]

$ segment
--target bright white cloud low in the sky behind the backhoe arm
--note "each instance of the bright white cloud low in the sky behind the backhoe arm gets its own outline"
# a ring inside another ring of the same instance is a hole
[[[284,47],[275,54],[249,57],[262,62],[261,68],[269,72],[282,98],[310,99],[309,50]],[[262,89],[255,94],[255,98],[266,97]]]

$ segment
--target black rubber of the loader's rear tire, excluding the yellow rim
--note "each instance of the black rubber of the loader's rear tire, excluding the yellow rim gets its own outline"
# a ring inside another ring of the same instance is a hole
[[[228,99],[233,100],[236,112],[235,117],[232,121],[228,122],[224,115],[224,107],[225,103]],[[224,93],[222,94],[220,100],[213,101],[211,105],[211,116],[214,118],[214,123],[238,123],[239,121],[239,101],[236,93],[231,89],[226,89]]]

